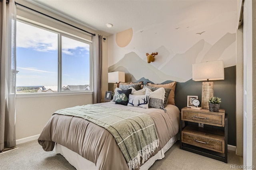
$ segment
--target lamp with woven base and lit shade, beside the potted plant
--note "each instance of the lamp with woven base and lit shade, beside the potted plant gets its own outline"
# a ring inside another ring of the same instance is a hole
[[[192,64],[192,80],[206,81],[202,83],[202,109],[209,109],[208,100],[214,96],[213,82],[224,80],[224,64],[222,60]]]

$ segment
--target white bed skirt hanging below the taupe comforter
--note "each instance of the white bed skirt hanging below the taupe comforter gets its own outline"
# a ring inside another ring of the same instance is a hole
[[[158,151],[158,153],[154,156],[152,156],[147,162],[145,162],[142,166],[140,166],[141,170],[148,170],[152,164],[156,160],[164,158],[164,153],[174,145],[174,143],[178,140],[178,134],[172,137],[168,143]],[[96,165],[91,162],[90,160],[87,160],[86,158],[83,158],[78,153],[56,143],[55,145],[55,152],[56,154],[62,154],[68,162],[74,166],[77,170],[97,170]]]

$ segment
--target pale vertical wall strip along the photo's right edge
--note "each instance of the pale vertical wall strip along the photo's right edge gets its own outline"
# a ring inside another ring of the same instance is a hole
[[[244,169],[256,166],[256,1],[244,1]]]

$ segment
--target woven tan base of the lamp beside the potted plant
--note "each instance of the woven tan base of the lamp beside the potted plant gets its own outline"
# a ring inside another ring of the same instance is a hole
[[[202,109],[209,109],[208,100],[214,96],[213,82],[203,82],[202,84]]]

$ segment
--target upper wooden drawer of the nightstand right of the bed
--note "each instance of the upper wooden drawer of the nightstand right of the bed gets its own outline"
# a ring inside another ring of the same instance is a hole
[[[208,125],[224,127],[224,114],[200,113],[193,111],[182,111],[182,120],[192,121],[196,123],[204,123]]]

